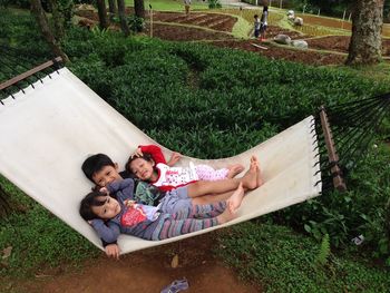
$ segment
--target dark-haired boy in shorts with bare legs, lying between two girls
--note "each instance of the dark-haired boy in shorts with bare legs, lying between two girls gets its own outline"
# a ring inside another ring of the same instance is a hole
[[[123,180],[128,174],[118,172],[118,164],[114,163],[105,154],[96,154],[88,157],[81,166],[81,169],[87,178],[95,183],[99,187],[105,187],[118,180]],[[143,198],[143,203],[147,205],[162,204],[160,208],[165,213],[174,214],[182,209],[182,199],[189,201],[193,205],[211,204],[223,202],[232,195],[232,191],[236,189],[240,182],[243,182],[243,187],[246,189],[254,189],[259,187],[261,182],[261,174],[257,166],[257,158],[252,157],[250,170],[243,176],[243,178],[233,178],[218,182],[196,182],[177,189],[173,189],[167,193],[157,192],[153,194],[156,187],[143,182],[135,182],[134,198],[139,201]],[[139,187],[154,187],[146,189]],[[140,193],[139,193],[140,191]],[[145,197],[145,194],[152,194],[152,196]],[[213,195],[211,195],[213,194]],[[150,198],[152,197],[152,198]],[[147,201],[149,199],[149,201]],[[105,242],[105,252],[108,256],[115,258],[119,257],[119,247],[114,242]]]

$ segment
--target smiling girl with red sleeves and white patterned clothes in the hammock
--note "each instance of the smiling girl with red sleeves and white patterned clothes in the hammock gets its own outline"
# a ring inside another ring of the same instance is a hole
[[[233,178],[244,169],[241,164],[222,169],[214,169],[207,165],[195,166],[192,163],[188,167],[173,167],[181,157],[181,154],[173,153],[169,162],[166,163],[158,146],[139,146],[126,163],[126,169],[137,178],[149,182],[165,192],[197,180]]]

